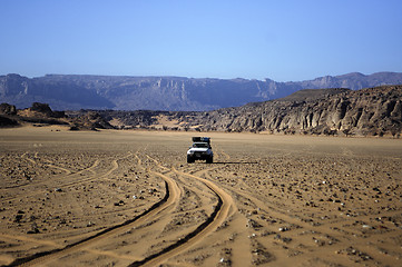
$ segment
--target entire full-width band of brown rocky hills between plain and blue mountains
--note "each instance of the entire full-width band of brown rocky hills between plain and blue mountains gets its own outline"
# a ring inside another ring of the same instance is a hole
[[[402,134],[402,86],[361,90],[306,89],[277,100],[213,111],[52,111],[46,103],[18,110],[0,105],[0,126],[69,125],[70,129],[160,129],[281,135],[392,136]]]

